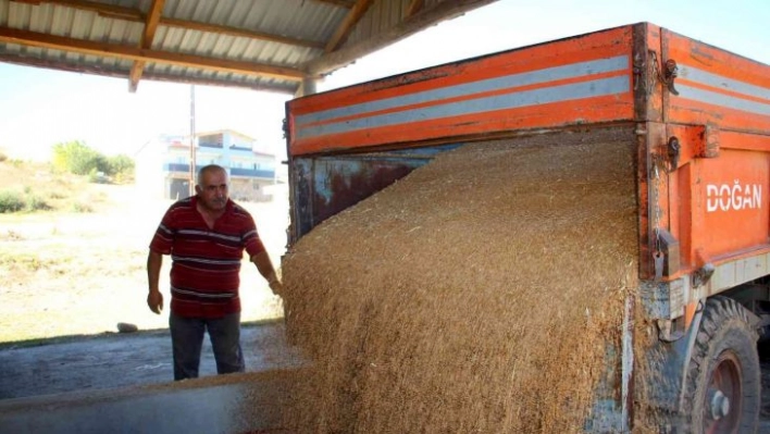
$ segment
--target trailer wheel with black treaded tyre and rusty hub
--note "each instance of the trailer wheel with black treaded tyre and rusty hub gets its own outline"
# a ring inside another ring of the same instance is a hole
[[[756,432],[761,399],[756,342],[741,305],[725,297],[706,302],[687,369],[685,432]]]

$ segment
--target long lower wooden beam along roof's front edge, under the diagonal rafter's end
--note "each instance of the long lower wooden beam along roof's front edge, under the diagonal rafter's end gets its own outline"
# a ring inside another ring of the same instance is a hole
[[[37,32],[18,30],[14,28],[0,27],[0,41],[62,51],[74,51],[83,54],[164,63],[183,67],[196,67],[249,76],[268,76],[298,82],[302,80],[306,76],[301,71],[293,67],[240,62],[226,59],[214,60],[202,55],[181,54],[167,51],[121,46],[116,44],[96,42],[91,40],[66,38],[63,36],[46,35]]]

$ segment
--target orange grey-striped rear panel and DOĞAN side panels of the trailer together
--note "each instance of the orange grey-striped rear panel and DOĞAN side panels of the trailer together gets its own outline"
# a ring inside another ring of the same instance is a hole
[[[642,278],[661,251],[662,281],[770,251],[770,66],[653,24],[309,96],[287,113],[290,158],[626,123],[637,132]]]

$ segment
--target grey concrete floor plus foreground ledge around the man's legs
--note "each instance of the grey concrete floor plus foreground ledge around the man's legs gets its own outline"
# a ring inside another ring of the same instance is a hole
[[[301,361],[283,336],[280,322],[245,326],[247,373],[232,375],[215,375],[206,340],[201,377],[185,382],[172,381],[167,332],[0,350],[0,432],[286,433],[282,372]]]

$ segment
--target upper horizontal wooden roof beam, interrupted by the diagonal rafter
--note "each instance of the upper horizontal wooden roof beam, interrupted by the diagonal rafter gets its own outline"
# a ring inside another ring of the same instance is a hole
[[[29,3],[29,0],[11,0],[11,1],[16,1],[16,2],[21,2],[21,3]],[[145,16],[145,13],[138,9],[116,7],[116,5],[112,5],[112,4],[105,4],[105,3],[97,3],[95,1],[87,1],[87,0],[34,0],[34,1],[35,1],[35,3],[33,3],[33,4],[51,3],[51,4],[57,4],[57,5],[62,5],[62,7],[73,8],[73,9],[79,9],[83,11],[91,11],[91,12],[96,12],[99,15],[104,16],[104,17],[123,20],[123,21],[131,21],[131,22],[135,22],[135,23],[145,23],[147,20]],[[303,40],[303,39],[297,39],[297,38],[289,38],[286,36],[273,35],[273,34],[269,34],[269,33],[264,33],[264,32],[253,32],[253,30],[247,30],[247,29],[236,28],[236,27],[227,27],[227,26],[220,26],[220,25],[214,25],[214,24],[198,23],[195,21],[184,21],[184,20],[161,17],[160,25],[164,25],[164,26],[169,26],[169,27],[181,27],[181,28],[186,28],[188,30],[210,32],[210,33],[215,33],[215,34],[238,36],[238,37],[243,37],[243,38],[261,39],[261,40],[266,40],[266,41],[271,41],[271,42],[281,42],[281,44],[286,44],[286,45],[290,45],[290,46],[298,46],[298,47],[308,47],[308,48],[316,48],[316,49],[324,48],[323,42],[318,42],[318,41],[312,41],[312,40]]]

